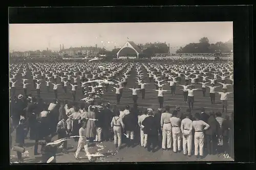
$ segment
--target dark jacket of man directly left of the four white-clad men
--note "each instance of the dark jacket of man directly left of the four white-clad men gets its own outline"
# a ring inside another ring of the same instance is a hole
[[[153,116],[148,116],[143,120],[142,125],[144,126],[145,134],[158,135],[158,127],[156,121],[156,118]]]

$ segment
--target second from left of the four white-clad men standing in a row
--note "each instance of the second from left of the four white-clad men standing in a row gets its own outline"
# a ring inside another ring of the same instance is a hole
[[[173,151],[177,153],[177,144],[178,144],[178,152],[181,152],[181,130],[180,124],[181,119],[177,117],[177,112],[173,112],[173,117],[170,117],[170,124],[172,125],[173,131]]]

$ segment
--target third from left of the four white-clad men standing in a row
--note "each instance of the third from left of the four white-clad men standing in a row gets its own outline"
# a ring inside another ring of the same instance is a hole
[[[190,114],[186,113],[186,118],[181,121],[181,132],[183,138],[183,154],[188,157],[191,156],[192,151],[192,120],[190,119]]]

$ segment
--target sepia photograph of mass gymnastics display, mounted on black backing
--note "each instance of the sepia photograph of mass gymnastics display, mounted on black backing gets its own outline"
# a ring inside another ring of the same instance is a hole
[[[233,81],[232,21],[10,23],[10,163],[233,161]]]

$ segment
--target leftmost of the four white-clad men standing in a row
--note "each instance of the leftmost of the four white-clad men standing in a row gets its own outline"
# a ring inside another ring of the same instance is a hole
[[[170,107],[165,107],[165,112],[161,115],[161,129],[162,129],[162,150],[166,150],[166,140],[167,149],[172,148],[172,125],[170,124],[170,117],[173,116],[170,112]]]

